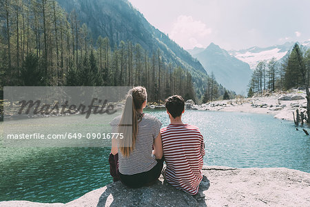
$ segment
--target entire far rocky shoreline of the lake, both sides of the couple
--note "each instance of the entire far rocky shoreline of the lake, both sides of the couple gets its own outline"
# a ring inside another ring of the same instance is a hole
[[[194,101],[187,100],[185,103],[185,108],[192,110],[210,110],[210,111],[225,111],[225,112],[249,112],[258,114],[269,114],[277,119],[285,119],[288,121],[293,121],[293,112],[296,109],[299,112],[305,112],[307,110],[307,100],[305,99],[306,92],[304,90],[290,90],[287,92],[266,92],[263,95],[254,95],[251,98],[241,98],[241,99],[230,99],[221,101],[211,101],[209,103],[203,103],[201,105],[196,105]],[[123,103],[116,104],[116,108],[123,108]],[[150,110],[164,110],[165,106],[154,105],[154,103],[149,103],[147,106]],[[39,115],[15,115],[14,112],[10,112],[5,115],[0,115],[0,121],[3,118],[6,120],[12,119],[33,119],[42,117],[59,117],[59,116],[72,116],[79,115],[79,112],[66,113],[65,115],[57,114],[52,112],[49,115],[39,114]]]

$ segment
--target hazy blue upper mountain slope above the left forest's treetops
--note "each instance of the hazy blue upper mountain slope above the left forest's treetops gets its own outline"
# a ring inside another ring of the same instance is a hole
[[[132,41],[141,45],[149,55],[159,48],[165,62],[172,63],[173,67],[185,68],[191,73],[196,94],[198,97],[203,95],[208,77],[200,62],[166,34],[154,28],[129,1],[58,0],[58,2],[67,12],[79,16],[78,24],[87,25],[92,39],[97,39],[100,35],[108,37],[112,48],[119,46],[121,41]],[[224,93],[224,90],[221,91]]]

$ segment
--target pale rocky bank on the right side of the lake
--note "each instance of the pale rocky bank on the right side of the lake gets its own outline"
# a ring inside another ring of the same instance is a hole
[[[195,105],[198,110],[220,110],[227,112],[251,112],[270,114],[277,119],[293,121],[293,112],[298,108],[305,111],[307,100],[304,90],[292,90],[291,92],[273,92],[265,95],[256,95],[245,99],[231,99],[213,101]],[[283,100],[287,99],[287,100]]]

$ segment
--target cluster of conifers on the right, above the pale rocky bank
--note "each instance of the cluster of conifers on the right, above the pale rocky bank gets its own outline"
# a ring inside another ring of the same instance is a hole
[[[265,91],[289,90],[309,86],[310,50],[303,51],[296,43],[291,53],[279,63],[276,58],[260,61],[249,81],[248,97]]]

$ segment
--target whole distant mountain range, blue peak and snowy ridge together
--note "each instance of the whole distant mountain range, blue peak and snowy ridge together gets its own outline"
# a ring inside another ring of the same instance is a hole
[[[209,74],[214,72],[218,83],[242,94],[247,90],[252,70],[255,70],[259,61],[269,61],[275,57],[280,62],[291,53],[295,43],[287,42],[267,48],[255,46],[245,50],[229,51],[211,43],[207,48],[194,48],[187,51],[203,64]],[[310,49],[310,40],[299,44],[304,52]]]

